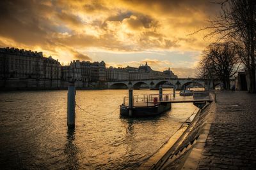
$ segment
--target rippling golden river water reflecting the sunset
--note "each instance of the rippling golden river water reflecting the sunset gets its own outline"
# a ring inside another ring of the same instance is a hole
[[[134,90],[136,94],[157,90]],[[164,90],[170,93],[170,90]],[[128,90],[77,90],[67,129],[67,90],[0,94],[1,169],[136,169],[196,111],[191,103],[152,118],[120,118]]]

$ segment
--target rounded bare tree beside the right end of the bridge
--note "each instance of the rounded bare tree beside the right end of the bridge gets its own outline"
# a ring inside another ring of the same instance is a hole
[[[200,73],[204,78],[218,78],[224,89],[230,89],[230,78],[239,70],[241,62],[233,43],[212,43],[204,50]]]

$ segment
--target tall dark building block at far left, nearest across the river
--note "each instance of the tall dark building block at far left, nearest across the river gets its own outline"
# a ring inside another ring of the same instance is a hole
[[[42,52],[0,48],[1,87],[60,87],[61,65]]]

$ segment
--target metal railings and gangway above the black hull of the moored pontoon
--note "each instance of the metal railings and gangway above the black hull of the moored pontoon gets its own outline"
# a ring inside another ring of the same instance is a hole
[[[194,91],[193,96],[180,96],[179,93],[171,94],[163,94],[163,96],[159,96],[159,94],[142,94],[142,95],[134,95],[132,97],[132,106],[154,106],[161,102],[172,102],[172,101],[200,101],[205,100],[209,101],[213,97],[210,95],[210,92],[206,91]],[[129,106],[129,97],[124,97],[124,106]]]

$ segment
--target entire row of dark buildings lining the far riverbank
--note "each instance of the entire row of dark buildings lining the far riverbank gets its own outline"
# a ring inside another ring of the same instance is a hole
[[[154,71],[145,65],[140,67],[108,67],[104,61],[73,60],[61,66],[58,60],[44,57],[42,52],[0,48],[0,87],[19,89],[67,88],[68,81],[76,81],[76,87],[105,85],[106,81],[149,80],[177,78],[170,70]],[[98,83],[97,83],[98,82]]]

